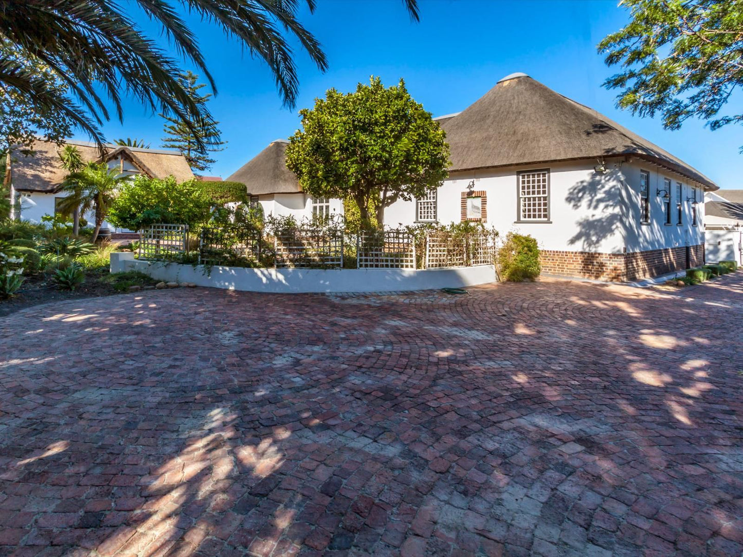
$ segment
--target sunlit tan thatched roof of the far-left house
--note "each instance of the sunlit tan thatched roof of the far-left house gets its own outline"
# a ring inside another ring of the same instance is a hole
[[[123,157],[143,174],[154,178],[170,175],[182,182],[190,180],[193,172],[185,157],[178,151],[170,149],[141,149],[106,144],[103,157],[94,143],[85,141],[68,141],[80,151],[82,160],[101,162]],[[33,144],[33,155],[25,156],[16,153],[13,162],[13,187],[22,192],[54,193],[59,191],[67,171],[62,169],[59,160],[59,147],[49,141],[36,141]]]

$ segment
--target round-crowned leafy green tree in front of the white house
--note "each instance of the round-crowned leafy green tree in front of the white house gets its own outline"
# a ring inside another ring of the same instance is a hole
[[[329,89],[299,114],[303,129],[291,137],[288,168],[313,197],[353,199],[368,226],[370,203],[383,227],[386,207],[422,197],[447,177],[446,134],[402,79],[385,88],[372,77],[348,94]]]

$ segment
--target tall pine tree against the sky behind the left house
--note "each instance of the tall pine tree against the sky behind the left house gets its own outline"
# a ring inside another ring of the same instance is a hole
[[[189,96],[198,106],[206,105],[212,94],[202,95],[199,89],[203,88],[204,83],[197,83],[198,75],[186,71],[181,74],[181,83]],[[169,123],[165,125],[165,133],[168,137],[163,137],[163,147],[167,149],[178,149],[183,153],[192,170],[203,172],[207,170],[216,161],[209,156],[210,152],[222,151],[221,145],[227,143],[219,140],[218,122],[215,120],[206,120],[196,132],[189,129],[184,120],[160,114],[160,117]],[[199,143],[201,141],[201,144]]]

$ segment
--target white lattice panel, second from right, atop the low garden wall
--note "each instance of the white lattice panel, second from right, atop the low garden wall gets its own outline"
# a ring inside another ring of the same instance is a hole
[[[361,232],[356,253],[359,269],[415,269],[415,237],[409,232]]]

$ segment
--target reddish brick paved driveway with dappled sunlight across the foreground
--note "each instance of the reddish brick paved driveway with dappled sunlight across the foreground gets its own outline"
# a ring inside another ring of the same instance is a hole
[[[0,320],[0,553],[740,555],[743,273]]]

